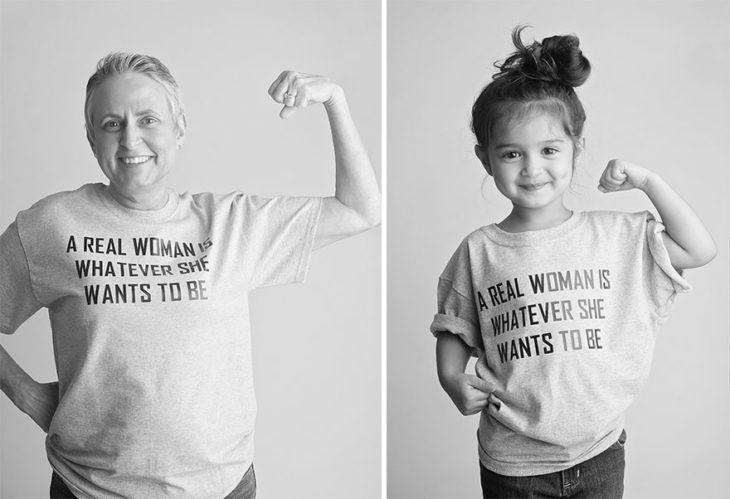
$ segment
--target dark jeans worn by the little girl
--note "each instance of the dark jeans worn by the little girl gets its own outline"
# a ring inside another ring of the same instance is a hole
[[[481,464],[484,499],[573,497],[621,499],[624,494],[626,431],[611,447],[588,461],[547,475],[503,476]]]

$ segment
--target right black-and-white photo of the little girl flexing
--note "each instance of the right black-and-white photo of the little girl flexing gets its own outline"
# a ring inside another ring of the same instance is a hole
[[[389,2],[388,497],[727,497],[729,15]]]

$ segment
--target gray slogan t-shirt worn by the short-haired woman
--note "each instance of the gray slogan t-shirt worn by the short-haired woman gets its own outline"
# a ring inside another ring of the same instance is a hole
[[[51,320],[46,439],[79,497],[220,499],[253,459],[248,291],[305,278],[319,198],[170,193],[136,211],[102,184],[0,236],[0,331]]]

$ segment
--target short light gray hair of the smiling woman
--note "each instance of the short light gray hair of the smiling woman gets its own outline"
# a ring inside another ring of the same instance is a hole
[[[148,76],[163,86],[172,106],[173,119],[179,129],[185,130],[187,120],[185,118],[185,107],[182,102],[182,93],[172,73],[167,69],[167,66],[162,64],[159,59],[149,55],[112,52],[99,60],[96,65],[96,72],[91,75],[91,78],[89,78],[86,84],[84,116],[86,118],[86,135],[89,137],[89,140],[94,137],[91,108],[97,88],[110,76],[122,74],[127,71]]]

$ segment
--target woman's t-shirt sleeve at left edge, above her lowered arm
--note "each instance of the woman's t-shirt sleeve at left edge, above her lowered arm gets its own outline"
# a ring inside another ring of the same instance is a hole
[[[28,261],[13,222],[0,235],[0,332],[14,333],[41,307],[33,294]]]

